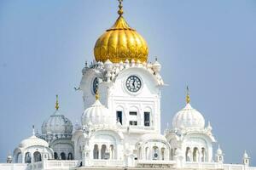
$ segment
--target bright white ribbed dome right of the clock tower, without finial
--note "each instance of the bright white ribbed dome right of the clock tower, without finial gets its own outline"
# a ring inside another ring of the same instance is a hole
[[[196,111],[188,103],[183,110],[178,111],[172,119],[172,127],[178,129],[184,128],[204,128],[205,119],[199,111]]]

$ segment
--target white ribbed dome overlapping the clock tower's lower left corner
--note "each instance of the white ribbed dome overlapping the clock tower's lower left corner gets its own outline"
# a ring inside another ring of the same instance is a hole
[[[96,102],[87,108],[82,115],[82,124],[85,125],[115,125],[114,117],[108,109],[96,99]]]

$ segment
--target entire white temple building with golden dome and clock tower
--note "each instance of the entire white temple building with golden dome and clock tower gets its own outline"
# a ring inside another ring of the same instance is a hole
[[[161,65],[148,62],[148,46],[123,18],[96,41],[95,59],[85,65],[79,90],[84,112],[79,125],[61,113],[45,117],[42,132],[24,139],[1,170],[51,169],[224,169],[249,167],[245,151],[241,164],[225,164],[224,152],[210,122],[190,103],[173,114],[172,126],[161,133]]]

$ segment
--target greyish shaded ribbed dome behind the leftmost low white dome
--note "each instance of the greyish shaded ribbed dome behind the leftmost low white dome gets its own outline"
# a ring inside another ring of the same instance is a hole
[[[44,121],[42,125],[42,133],[47,134],[72,134],[73,125],[67,117],[61,115],[61,113],[56,110],[55,113]]]

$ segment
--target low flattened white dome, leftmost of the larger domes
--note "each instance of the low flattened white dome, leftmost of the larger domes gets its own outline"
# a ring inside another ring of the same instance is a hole
[[[49,144],[44,139],[39,139],[35,135],[32,135],[28,139],[24,139],[19,144],[20,148],[28,148],[30,146],[44,146],[48,147]]]

